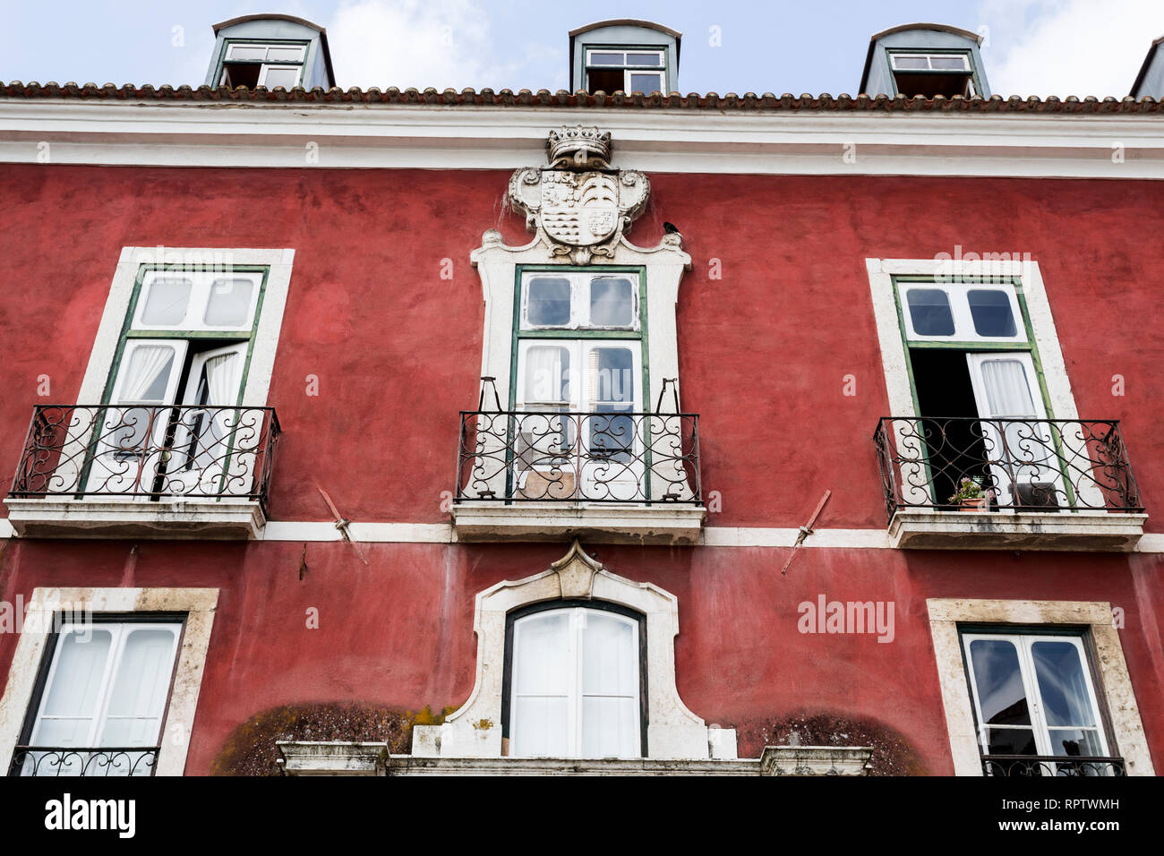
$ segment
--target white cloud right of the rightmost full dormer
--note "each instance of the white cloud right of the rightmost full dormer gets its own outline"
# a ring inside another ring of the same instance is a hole
[[[1123,98],[1164,35],[1161,0],[985,0],[981,13],[994,42],[986,73],[1003,98]]]

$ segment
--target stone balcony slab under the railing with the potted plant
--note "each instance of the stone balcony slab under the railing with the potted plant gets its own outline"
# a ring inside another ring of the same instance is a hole
[[[1106,511],[927,511],[894,514],[889,545],[909,550],[1130,552],[1145,514]]]

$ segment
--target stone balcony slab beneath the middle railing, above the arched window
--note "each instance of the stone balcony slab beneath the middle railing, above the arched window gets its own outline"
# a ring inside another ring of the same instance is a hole
[[[696,544],[707,509],[677,503],[580,505],[463,501],[453,505],[457,540],[574,540],[597,544]]]

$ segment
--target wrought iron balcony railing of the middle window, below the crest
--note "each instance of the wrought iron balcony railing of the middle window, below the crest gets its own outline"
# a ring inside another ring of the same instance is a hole
[[[698,419],[462,411],[456,501],[701,505]]]

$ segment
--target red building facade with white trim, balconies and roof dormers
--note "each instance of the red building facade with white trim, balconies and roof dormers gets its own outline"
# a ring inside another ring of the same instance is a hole
[[[1164,764],[1154,52],[681,95],[625,20],[418,92],[214,29],[0,92],[12,774]]]

